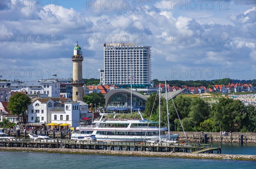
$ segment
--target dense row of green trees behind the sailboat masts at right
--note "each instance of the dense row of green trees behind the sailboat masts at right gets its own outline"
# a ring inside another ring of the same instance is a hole
[[[154,93],[148,98],[143,115],[147,118],[151,115],[151,120],[158,121],[159,98],[156,95]],[[167,126],[166,100],[161,98],[160,101],[161,126]],[[176,97],[173,102],[168,101],[172,131],[175,128],[176,131],[183,131],[181,120],[187,132],[256,132],[256,107],[253,105],[245,106],[241,101],[230,98],[221,98],[218,103],[209,105],[201,98],[183,96]]]

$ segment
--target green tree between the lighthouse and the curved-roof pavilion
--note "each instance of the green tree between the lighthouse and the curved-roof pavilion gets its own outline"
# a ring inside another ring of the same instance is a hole
[[[94,92],[90,93],[86,96],[83,96],[83,101],[84,103],[87,103],[87,104],[90,104],[90,103],[93,103],[93,105],[96,104],[96,107],[99,107],[99,103],[100,103],[100,106],[105,106],[105,97],[104,95],[102,95],[102,93],[94,93]]]

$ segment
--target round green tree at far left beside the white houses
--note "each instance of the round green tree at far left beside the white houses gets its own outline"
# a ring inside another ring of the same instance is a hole
[[[7,109],[9,109],[11,115],[22,115],[22,122],[24,123],[25,111],[28,109],[29,104],[31,104],[31,99],[27,95],[16,93],[10,97]]]

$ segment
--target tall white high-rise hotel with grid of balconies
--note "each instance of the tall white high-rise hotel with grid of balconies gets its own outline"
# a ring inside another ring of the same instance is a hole
[[[151,82],[151,46],[134,43],[104,44],[104,70],[101,83],[148,88]],[[131,81],[132,80],[132,81]]]

